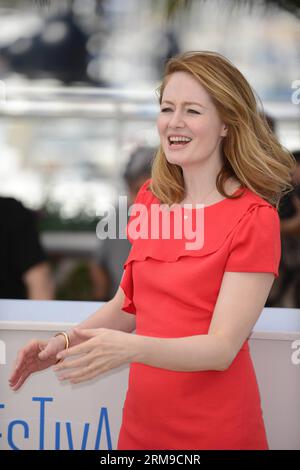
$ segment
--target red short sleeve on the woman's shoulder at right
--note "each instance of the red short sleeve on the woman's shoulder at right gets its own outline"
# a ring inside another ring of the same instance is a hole
[[[248,211],[235,228],[225,271],[271,272],[278,277],[280,221],[271,205]]]

